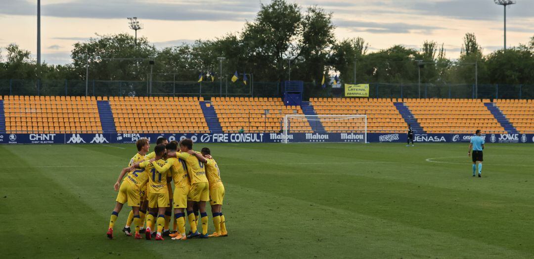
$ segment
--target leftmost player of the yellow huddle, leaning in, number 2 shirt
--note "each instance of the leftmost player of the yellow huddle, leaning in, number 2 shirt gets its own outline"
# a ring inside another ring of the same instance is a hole
[[[129,173],[124,178],[124,175],[127,172]],[[121,183],[121,180],[123,178],[124,180]],[[135,238],[141,238],[141,236],[139,235],[139,206],[141,203],[141,189],[147,181],[148,174],[144,172],[144,170],[131,171],[131,167],[126,167],[122,169],[121,173],[119,174],[119,178],[117,179],[117,182],[113,185],[113,188],[115,189],[115,191],[119,191],[119,194],[117,195],[117,203],[115,204],[115,208],[111,213],[111,219],[109,220],[109,228],[107,231],[107,237],[109,239],[113,238],[113,226],[115,225],[117,216],[119,216],[119,212],[121,212],[122,206],[124,205],[124,203],[127,202],[128,205],[132,207],[133,211],[133,223],[136,225]]]

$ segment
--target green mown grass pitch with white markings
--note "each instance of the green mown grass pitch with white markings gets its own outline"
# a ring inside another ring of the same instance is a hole
[[[156,242],[124,236],[126,206],[106,238],[113,183],[135,145],[0,145],[0,249],[9,258],[534,257],[533,145],[488,144],[482,178],[471,176],[467,144],[206,146],[221,168],[229,237]]]

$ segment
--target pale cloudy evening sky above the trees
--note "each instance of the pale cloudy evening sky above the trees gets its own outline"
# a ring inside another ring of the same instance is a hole
[[[504,46],[504,8],[493,0],[288,2],[332,12],[335,37],[362,37],[370,52],[394,44],[420,49],[429,40],[444,44],[447,58],[456,59],[466,33],[476,35],[485,54]],[[42,0],[42,60],[69,63],[73,44],[95,34],[133,35],[127,17],[138,17],[144,25],[138,36],[159,48],[238,33],[246,21],[254,20],[260,4],[259,0]],[[534,0],[517,0],[506,13],[507,46],[528,43],[534,36]],[[17,43],[35,56],[37,0],[0,0],[0,25],[0,47]]]

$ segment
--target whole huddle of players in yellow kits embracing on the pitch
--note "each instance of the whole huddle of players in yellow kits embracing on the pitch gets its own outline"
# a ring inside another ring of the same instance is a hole
[[[147,139],[139,139],[136,145],[138,152],[132,157],[128,167],[122,169],[114,185],[115,191],[119,191],[119,194],[109,220],[107,237],[113,238],[113,227],[124,203],[128,203],[132,211],[123,232],[131,236],[130,225],[135,224],[135,239],[141,239],[140,233],[145,233],[147,240],[154,235],[156,240],[163,240],[163,236],[170,236],[175,240],[226,237],[226,225],[221,212],[224,185],[209,148],[195,152],[192,150],[193,142],[190,139],[178,143],[168,142],[164,137],[156,141],[154,152],[150,154],[147,154],[150,149]],[[174,192],[170,185],[171,181],[175,185]],[[210,235],[207,233],[206,201],[210,201],[215,226],[215,232]],[[169,231],[171,204],[175,217],[175,231],[172,233]],[[197,230],[198,211],[200,211],[202,233]],[[185,212],[191,226],[189,236],[185,234]],[[145,218],[146,229],[144,229]],[[152,233],[154,225],[156,231]]]

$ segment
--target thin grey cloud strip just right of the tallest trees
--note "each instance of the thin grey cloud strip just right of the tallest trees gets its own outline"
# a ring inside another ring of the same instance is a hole
[[[351,20],[336,20],[335,25],[347,28],[352,31],[363,31],[367,33],[375,34],[391,34],[391,33],[413,33],[413,32],[422,32],[422,33],[432,33],[434,30],[444,29],[437,26],[426,26],[426,25],[413,25],[409,23],[381,23],[381,22],[364,22],[364,21],[351,21]]]

